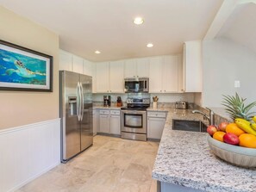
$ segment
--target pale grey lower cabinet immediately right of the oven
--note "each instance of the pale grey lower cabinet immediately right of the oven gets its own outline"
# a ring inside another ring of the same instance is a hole
[[[147,139],[161,139],[165,121],[165,112],[147,112]]]

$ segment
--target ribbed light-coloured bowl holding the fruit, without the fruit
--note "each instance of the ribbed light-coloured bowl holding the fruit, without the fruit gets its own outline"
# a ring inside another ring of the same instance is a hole
[[[209,148],[219,158],[241,167],[256,167],[256,149],[232,146],[210,136],[208,136],[207,140]]]

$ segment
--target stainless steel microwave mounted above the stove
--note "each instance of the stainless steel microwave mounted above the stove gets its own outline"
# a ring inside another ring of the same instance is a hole
[[[133,93],[133,92],[144,92],[148,93],[148,77],[139,77],[139,78],[125,78],[124,79],[124,92]]]

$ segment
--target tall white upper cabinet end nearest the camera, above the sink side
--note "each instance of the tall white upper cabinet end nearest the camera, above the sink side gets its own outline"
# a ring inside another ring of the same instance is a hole
[[[202,92],[202,42],[184,43],[184,91]]]

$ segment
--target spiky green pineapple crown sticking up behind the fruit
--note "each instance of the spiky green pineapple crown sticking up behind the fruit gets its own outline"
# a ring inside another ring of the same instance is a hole
[[[245,101],[247,99],[243,99],[235,93],[235,96],[224,96],[224,101],[222,105],[226,108],[229,117],[234,121],[235,118],[245,119],[247,121],[251,121],[255,112],[249,112],[254,106],[256,106],[256,102],[252,102],[248,105],[245,105]]]

